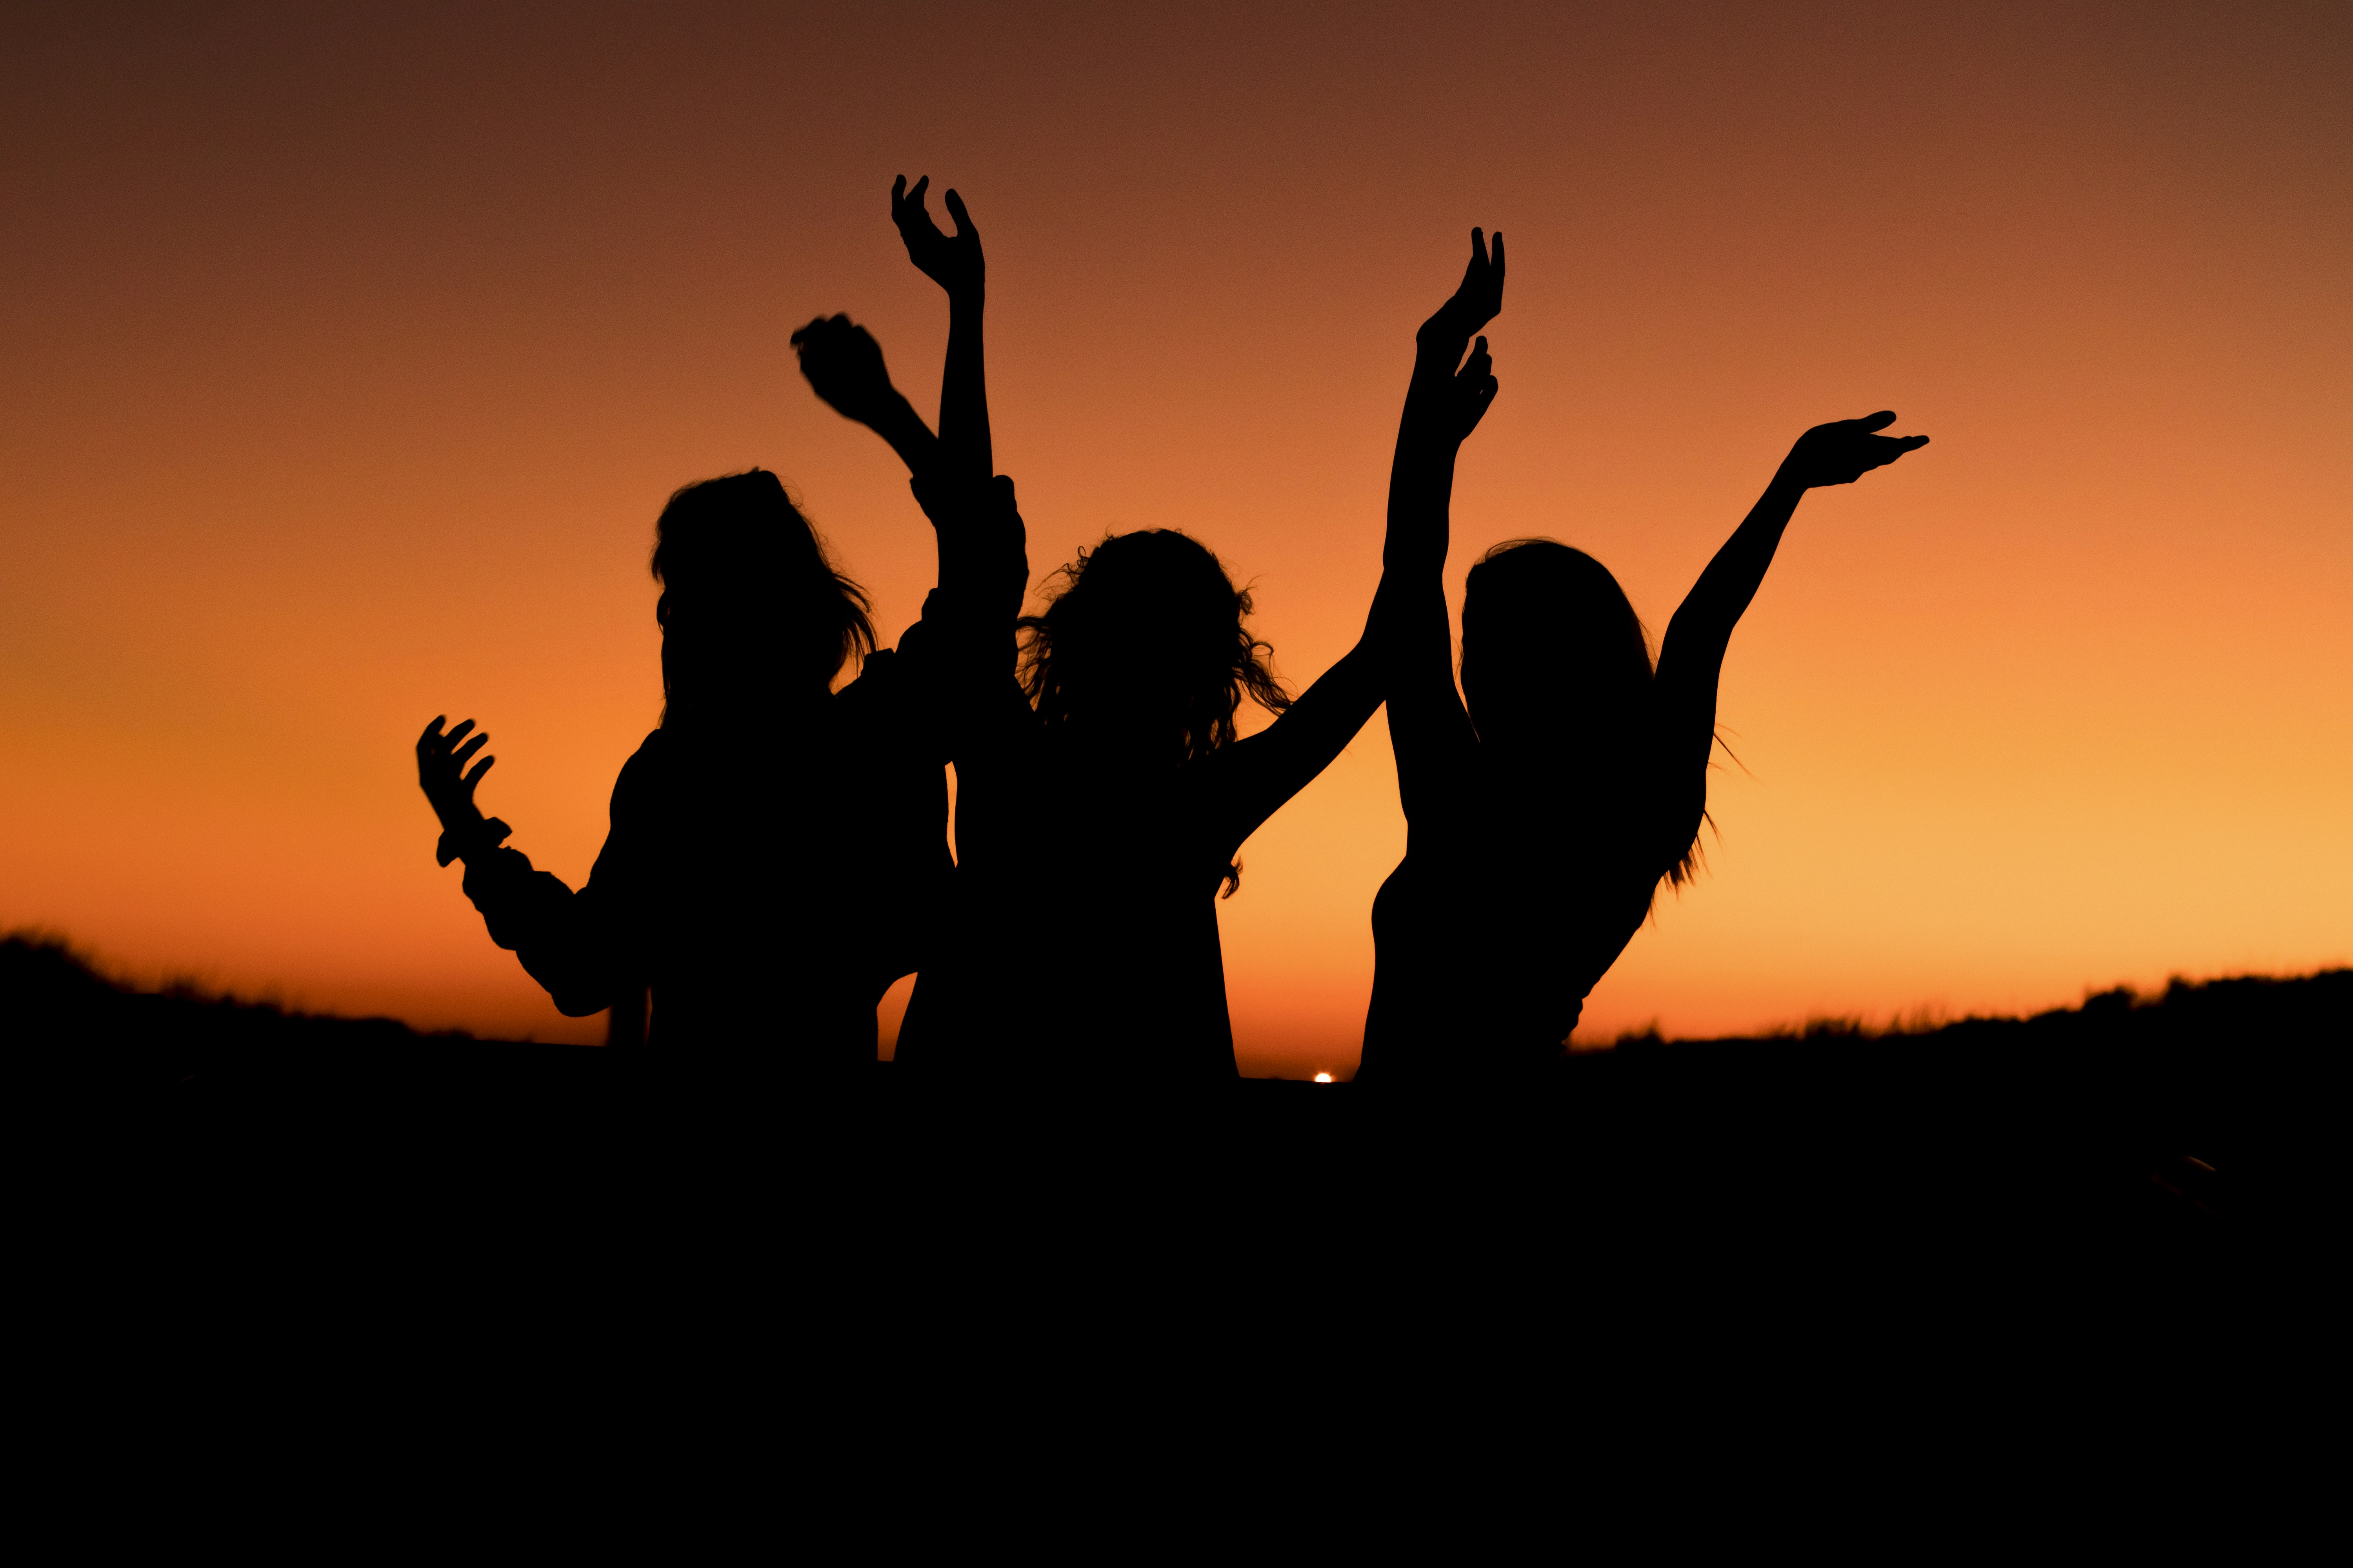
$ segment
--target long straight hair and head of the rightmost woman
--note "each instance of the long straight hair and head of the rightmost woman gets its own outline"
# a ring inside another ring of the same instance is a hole
[[[1638,811],[1654,788],[1657,663],[1649,632],[1619,581],[1555,538],[1506,538],[1464,581],[1464,696],[1489,729],[1548,731],[1537,750],[1574,755],[1569,795],[1600,813]],[[1485,715],[1485,722],[1482,717]],[[1626,820],[1617,816],[1617,820]],[[1640,818],[1635,818],[1640,820]],[[1701,820],[1713,825],[1706,809]],[[1682,886],[1704,863],[1699,832],[1666,867]]]

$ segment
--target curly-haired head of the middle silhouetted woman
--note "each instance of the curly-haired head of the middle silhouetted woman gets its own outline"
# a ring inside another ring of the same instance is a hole
[[[1247,625],[1249,590],[1176,529],[1106,534],[1024,616],[1021,691],[1049,731],[1120,736],[1169,764],[1240,738],[1242,701],[1292,705],[1273,646]],[[1226,893],[1242,882],[1226,867]]]

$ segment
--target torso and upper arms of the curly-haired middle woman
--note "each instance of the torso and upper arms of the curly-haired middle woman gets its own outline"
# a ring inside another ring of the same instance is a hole
[[[967,1081],[1231,1081],[1219,884],[1372,717],[1377,661],[1360,644],[1261,733],[1193,757],[1151,698],[1047,724],[1014,679],[1028,567],[1012,482],[915,494],[941,527],[927,672],[955,762],[958,867],[899,1060]]]

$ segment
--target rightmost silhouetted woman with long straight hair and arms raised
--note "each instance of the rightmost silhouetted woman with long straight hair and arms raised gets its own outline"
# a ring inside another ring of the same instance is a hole
[[[1447,310],[1431,317],[1428,374],[1452,371],[1475,329]],[[1487,374],[1487,339],[1471,369]],[[1586,992],[1659,882],[1692,872],[1715,682],[1781,529],[1807,489],[1852,484],[1927,444],[1875,435],[1892,421],[1798,437],[1675,611],[1657,672],[1617,578],[1581,550],[1529,538],[1471,569],[1457,696],[1445,512],[1424,512],[1438,531],[1412,543],[1412,588],[1398,588],[1388,693],[1407,849],[1372,905],[1360,1084],[1525,1079],[1560,1063]],[[1405,571],[1395,541],[1391,571]]]

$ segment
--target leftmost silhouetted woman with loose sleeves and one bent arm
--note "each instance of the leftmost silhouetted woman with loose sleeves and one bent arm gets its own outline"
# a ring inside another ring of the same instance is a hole
[[[487,736],[433,719],[416,771],[440,860],[492,940],[586,1016],[652,987],[649,1046],[784,1077],[864,1077],[875,1001],[915,969],[948,875],[946,785],[904,658],[772,473],[689,484],[654,524],[661,726],[624,764],[574,893],[501,849]],[[911,632],[913,637],[913,632]],[[833,682],[868,654],[859,679]]]

